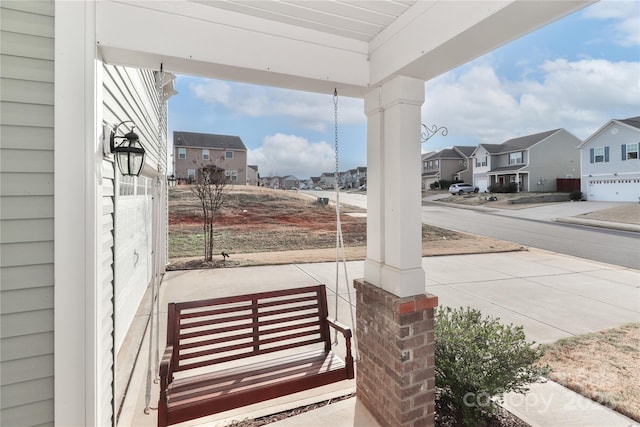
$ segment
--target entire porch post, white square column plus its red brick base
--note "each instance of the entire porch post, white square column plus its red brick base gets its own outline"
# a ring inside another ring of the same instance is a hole
[[[367,258],[356,288],[358,399],[382,426],[433,426],[434,309],[422,269],[420,107],[424,82],[365,96]]]

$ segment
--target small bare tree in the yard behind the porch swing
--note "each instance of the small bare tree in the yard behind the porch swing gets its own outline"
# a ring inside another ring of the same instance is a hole
[[[224,169],[208,165],[198,170],[191,192],[200,200],[202,207],[202,229],[204,231],[204,260],[213,259],[213,223],[218,211],[224,206],[229,179]]]

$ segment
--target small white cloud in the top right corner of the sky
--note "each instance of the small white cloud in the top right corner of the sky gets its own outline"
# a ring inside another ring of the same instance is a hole
[[[583,17],[610,20],[609,41],[626,47],[640,45],[640,2],[637,0],[600,1],[585,9]]]

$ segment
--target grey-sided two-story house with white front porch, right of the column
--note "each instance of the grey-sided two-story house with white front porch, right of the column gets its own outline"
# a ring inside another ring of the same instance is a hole
[[[474,150],[473,185],[516,183],[518,191],[556,191],[557,178],[580,176],[581,140],[564,129],[480,144]]]

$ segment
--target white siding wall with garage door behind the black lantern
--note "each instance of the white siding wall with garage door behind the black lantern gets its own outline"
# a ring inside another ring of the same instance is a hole
[[[115,357],[117,372],[113,390],[109,390],[109,393],[104,390],[102,395],[114,396],[113,404],[117,414],[133,371],[133,361],[118,353],[122,343],[129,339],[127,334],[144,291],[151,281],[153,250],[166,248],[166,239],[154,242],[152,238],[154,209],[165,212],[166,206],[163,206],[167,203],[166,199],[163,201],[152,197],[156,179],[152,171],[158,165],[166,171],[166,109],[159,100],[154,71],[105,64],[102,77],[104,122],[112,128],[120,122],[132,120],[147,153],[146,169],[139,178],[123,177],[117,168],[117,176],[114,176],[113,158],[108,156],[104,161],[104,168],[110,168],[111,176],[109,180],[103,179],[102,244],[103,247],[110,248],[107,253],[113,258],[114,267],[105,268],[109,277],[102,278],[105,288],[102,312],[105,314],[101,318],[101,333],[105,345],[100,351],[105,356],[107,351],[112,352],[109,360]],[[160,116],[163,117],[159,118]],[[151,175],[147,175],[149,173]],[[161,265],[165,265],[165,259],[163,257]],[[105,255],[104,263],[108,262]],[[107,286],[110,287],[109,291]],[[107,333],[112,333],[113,337]],[[111,367],[103,367],[104,378],[111,374],[111,371],[107,372],[107,368]],[[111,385],[112,382],[108,384]]]

